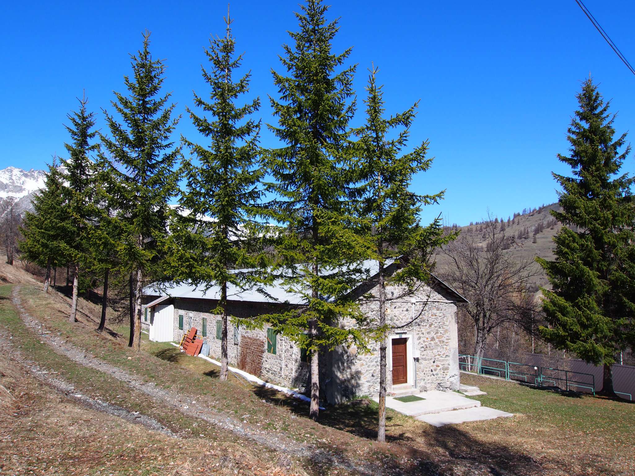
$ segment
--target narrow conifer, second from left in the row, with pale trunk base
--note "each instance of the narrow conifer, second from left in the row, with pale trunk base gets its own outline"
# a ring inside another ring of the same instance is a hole
[[[79,294],[79,270],[88,263],[89,241],[94,215],[93,195],[95,181],[95,165],[90,153],[98,150],[97,143],[91,141],[97,135],[93,130],[95,117],[88,112],[88,99],[83,96],[79,101],[79,110],[68,114],[70,121],[65,126],[69,131],[71,142],[64,147],[69,153],[68,159],[60,159],[62,170],[62,194],[67,202],[69,226],[73,232],[65,237],[65,253],[73,268],[73,293],[69,321],[76,321],[77,296]]]

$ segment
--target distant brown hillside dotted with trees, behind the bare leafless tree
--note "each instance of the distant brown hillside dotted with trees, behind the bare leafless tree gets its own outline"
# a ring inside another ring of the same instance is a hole
[[[511,248],[507,252],[511,253],[519,261],[531,261],[536,256],[548,260],[553,259],[553,250],[555,248],[553,237],[558,233],[562,225],[555,221],[549,212],[559,209],[558,203],[552,203],[525,214],[520,213],[514,217],[509,217],[509,221],[505,217],[503,219],[505,225],[503,233],[505,236],[513,237],[514,239]],[[500,221],[500,219],[498,220]],[[474,221],[464,227],[453,225],[451,228],[459,230],[461,234],[467,235],[470,240],[474,240],[475,244],[485,249],[486,239],[483,236],[483,221]],[[537,231],[537,234],[535,235],[534,243],[535,231]],[[438,253],[436,260],[437,270],[443,274],[443,269],[450,265],[448,258],[443,253]],[[538,271],[540,270],[538,265],[535,265],[535,268]],[[549,284],[547,276],[542,272],[535,277],[534,283],[537,286],[547,286]]]

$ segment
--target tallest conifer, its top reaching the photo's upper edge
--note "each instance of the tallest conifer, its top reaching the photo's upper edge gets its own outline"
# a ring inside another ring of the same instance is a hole
[[[302,296],[298,310],[267,316],[275,331],[307,350],[311,360],[311,406],[319,414],[319,354],[345,343],[363,347],[363,323],[349,291],[358,284],[359,261],[369,256],[366,242],[355,234],[348,209],[347,138],[354,114],[352,77],[343,67],[351,49],[333,53],[337,20],[328,22],[328,7],[309,0],[296,13],[300,29],[283,46],[286,74],[272,72],[280,99],[271,98],[277,126],[269,129],[284,143],[269,151],[266,168],[274,223],[282,225],[276,245],[274,274],[281,286]],[[308,334],[306,331],[308,330]]]

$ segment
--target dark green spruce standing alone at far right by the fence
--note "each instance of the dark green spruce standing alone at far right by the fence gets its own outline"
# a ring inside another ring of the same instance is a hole
[[[615,114],[591,79],[577,100],[580,109],[568,128],[570,154],[558,155],[572,176],[552,174],[562,187],[562,211],[551,211],[563,224],[554,237],[556,259],[537,258],[552,285],[542,289],[549,327],[540,331],[555,347],[602,364],[603,392],[613,394],[611,366],[620,350],[635,343],[633,178],[620,173],[631,147],[620,152],[626,134],[614,138]]]

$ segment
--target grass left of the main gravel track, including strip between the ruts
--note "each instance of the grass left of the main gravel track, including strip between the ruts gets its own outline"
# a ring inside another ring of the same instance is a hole
[[[78,366],[55,354],[22,324],[10,304],[11,286],[0,286],[0,326],[13,345],[43,369],[75,385],[76,391],[114,402],[130,411],[155,416],[181,439],[147,430],[114,416],[90,411],[39,383],[11,353],[0,354],[0,381],[6,393],[0,405],[0,473],[102,475],[215,474],[264,475],[274,472],[266,451],[249,450],[238,439],[223,439],[214,428],[149,401],[120,381]],[[221,464],[217,464],[218,462]],[[283,474],[283,472],[279,472]]]

